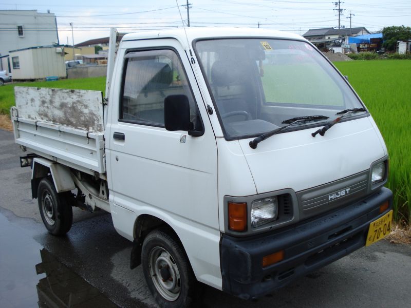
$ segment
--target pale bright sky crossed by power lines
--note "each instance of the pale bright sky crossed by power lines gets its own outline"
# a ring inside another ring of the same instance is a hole
[[[186,0],[71,0],[53,4],[49,0],[3,1],[0,0],[0,10],[54,13],[60,44],[71,45],[72,35],[74,44],[106,37],[110,27],[129,33],[188,24]],[[190,0],[189,3],[191,27],[259,26],[300,35],[308,29],[338,27],[338,7],[326,0]],[[352,27],[365,27],[370,32],[385,26],[411,26],[410,0],[346,0],[341,2],[341,9],[341,26],[346,28],[350,27],[350,20]],[[0,30],[2,26],[0,21]]]

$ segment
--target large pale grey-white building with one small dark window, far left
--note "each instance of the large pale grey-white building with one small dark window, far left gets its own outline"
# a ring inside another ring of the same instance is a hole
[[[0,70],[9,70],[10,50],[59,44],[54,13],[36,10],[0,10]]]

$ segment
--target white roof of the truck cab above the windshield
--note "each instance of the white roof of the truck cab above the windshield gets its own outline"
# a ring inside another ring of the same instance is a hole
[[[187,35],[187,38],[185,36]],[[156,30],[147,32],[129,33],[123,36],[122,41],[146,40],[147,38],[166,38],[173,37],[179,40],[182,45],[187,44],[187,39],[192,42],[198,38],[207,37],[277,37],[277,38],[291,38],[297,40],[305,40],[304,37],[273,29],[261,28],[226,28],[226,27],[201,27],[193,28],[186,27],[185,32],[183,28]]]

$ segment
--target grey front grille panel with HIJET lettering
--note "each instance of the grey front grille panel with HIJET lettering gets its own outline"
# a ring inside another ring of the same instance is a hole
[[[369,171],[321,186],[297,192],[300,219],[309,218],[365,197],[368,191]]]

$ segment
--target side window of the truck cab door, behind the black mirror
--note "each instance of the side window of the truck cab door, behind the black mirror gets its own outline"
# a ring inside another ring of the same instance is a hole
[[[164,127],[164,99],[183,94],[190,102],[195,129],[199,112],[182,64],[172,50],[134,51],[126,54],[120,121]]]

